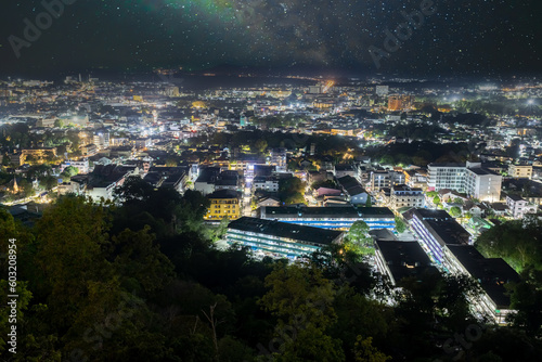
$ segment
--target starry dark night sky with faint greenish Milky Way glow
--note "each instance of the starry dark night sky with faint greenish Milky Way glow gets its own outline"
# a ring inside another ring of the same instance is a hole
[[[542,70],[540,0],[435,1],[416,29],[402,28],[400,49],[388,50],[385,31],[397,35],[404,14],[428,0],[64,1],[73,4],[51,24],[42,14],[44,29],[28,42],[24,20],[36,24],[41,1],[2,1],[0,73],[223,65],[409,75]],[[21,47],[18,59],[10,39]]]

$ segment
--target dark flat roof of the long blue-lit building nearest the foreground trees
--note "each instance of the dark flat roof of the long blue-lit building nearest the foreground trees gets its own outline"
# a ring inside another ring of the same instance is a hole
[[[230,222],[228,229],[246,231],[276,237],[293,238],[302,243],[330,245],[340,237],[343,232],[312,227],[304,227],[275,220],[243,217]]]

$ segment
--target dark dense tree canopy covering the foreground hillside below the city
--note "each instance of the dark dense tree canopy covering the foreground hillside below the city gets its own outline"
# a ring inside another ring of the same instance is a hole
[[[215,247],[220,231],[202,222],[199,193],[137,180],[120,191],[109,205],[60,197],[31,228],[0,209],[1,250],[16,240],[20,296],[16,354],[8,351],[8,309],[0,310],[2,360],[433,361],[461,352],[472,361],[534,361],[542,351],[533,337],[542,324],[540,269],[526,268],[509,286],[519,313],[495,327],[470,314],[465,292],[478,289],[469,279],[424,274],[392,292],[360,253],[366,225],[301,263],[256,260],[246,248]],[[539,228],[505,225],[525,243]],[[469,349],[450,347],[472,324],[483,328],[481,338]]]

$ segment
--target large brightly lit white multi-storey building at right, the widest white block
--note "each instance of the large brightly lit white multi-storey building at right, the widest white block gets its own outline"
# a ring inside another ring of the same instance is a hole
[[[429,191],[450,189],[479,201],[501,199],[502,176],[482,168],[480,163],[430,164],[427,168]]]

